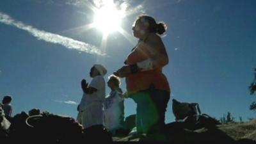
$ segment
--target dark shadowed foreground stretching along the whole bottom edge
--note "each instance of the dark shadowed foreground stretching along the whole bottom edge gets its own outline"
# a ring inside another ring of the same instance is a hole
[[[127,133],[123,136],[111,136],[111,133],[95,126],[83,129],[73,118],[43,113],[28,119],[24,112],[12,118],[9,129],[0,129],[1,142],[27,143],[40,140],[43,143],[79,143],[80,141],[156,142],[164,143],[255,143],[256,120],[246,123],[228,123],[189,131],[179,122],[166,124],[165,134],[154,136],[136,136]],[[30,124],[26,124],[26,120]],[[2,121],[3,122],[3,121]],[[133,124],[132,124],[133,125]]]

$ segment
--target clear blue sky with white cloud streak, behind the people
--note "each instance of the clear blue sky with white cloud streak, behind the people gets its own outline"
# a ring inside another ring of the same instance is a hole
[[[256,1],[115,3],[132,12],[120,24],[127,34],[116,31],[102,41],[102,31],[85,27],[93,22],[90,4],[97,6],[99,1],[0,2],[0,97],[12,95],[14,114],[40,108],[76,118],[81,79],[92,80],[89,70],[94,63],[105,65],[107,76],[122,67],[136,44],[132,24],[137,15],[147,13],[168,24],[163,41],[170,63],[164,74],[171,99],[198,102],[202,113],[216,118],[227,111],[236,120],[255,118],[249,106],[256,97],[248,86],[256,67]],[[166,122],[174,120],[171,107],[170,100]],[[134,102],[125,99],[125,116],[135,109]]]

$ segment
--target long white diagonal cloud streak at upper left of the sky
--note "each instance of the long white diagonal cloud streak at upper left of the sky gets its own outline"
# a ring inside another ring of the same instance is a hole
[[[94,45],[86,44],[72,38],[33,28],[33,26],[29,26],[23,22],[12,19],[12,17],[6,13],[0,12],[0,22],[9,26],[14,26],[24,31],[28,31],[28,33],[35,36],[38,40],[44,40],[45,42],[51,42],[53,44],[60,44],[64,47],[67,47],[68,49],[76,49],[77,51],[83,51],[90,54],[102,55],[102,52],[100,52],[99,49]]]

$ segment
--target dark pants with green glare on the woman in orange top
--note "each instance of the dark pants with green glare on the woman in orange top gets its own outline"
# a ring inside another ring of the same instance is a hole
[[[163,131],[170,92],[149,88],[148,90],[132,93],[131,99],[137,104],[137,132],[148,134]]]

